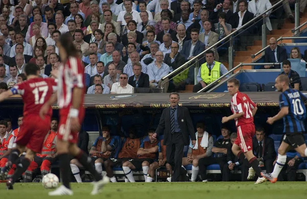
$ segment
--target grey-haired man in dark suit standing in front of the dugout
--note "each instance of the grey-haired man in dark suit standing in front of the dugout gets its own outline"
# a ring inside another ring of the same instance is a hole
[[[189,145],[189,136],[192,145],[196,143],[189,109],[179,106],[179,99],[179,93],[169,94],[170,107],[163,110],[156,132],[152,135],[156,138],[164,133],[163,145],[166,145],[166,160],[173,169],[171,179],[173,182],[179,181],[179,176],[183,173],[181,172],[183,148]]]

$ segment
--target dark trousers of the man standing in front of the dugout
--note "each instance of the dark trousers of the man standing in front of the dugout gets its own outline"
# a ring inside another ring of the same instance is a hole
[[[184,142],[182,133],[175,132],[171,135],[171,143],[166,146],[166,161],[173,169],[172,182],[179,182]]]

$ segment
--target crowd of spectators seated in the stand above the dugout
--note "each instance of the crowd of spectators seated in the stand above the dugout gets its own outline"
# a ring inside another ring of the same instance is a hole
[[[301,14],[306,2],[300,3]],[[40,67],[43,78],[53,77],[60,64],[57,42],[62,34],[72,36],[80,52],[87,94],[132,93],[143,87],[183,91],[185,85],[194,84],[194,66],[171,81],[161,78],[270,7],[269,0],[1,0],[0,91],[6,89],[4,83],[12,87],[21,81],[29,62]],[[273,14],[280,19],[284,11],[294,23],[288,3]],[[268,30],[272,30],[270,14],[265,16]],[[247,36],[258,35],[261,23],[240,29],[236,50],[246,50]],[[270,45],[266,62],[287,59],[275,38]],[[193,92],[228,72],[218,62],[226,53],[212,50],[200,60]],[[291,58],[301,58],[298,48],[292,51]]]

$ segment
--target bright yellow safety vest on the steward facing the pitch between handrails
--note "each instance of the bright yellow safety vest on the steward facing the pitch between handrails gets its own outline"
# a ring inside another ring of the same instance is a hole
[[[207,62],[202,64],[202,66],[201,66],[201,77],[207,85],[212,83],[216,79],[220,78],[220,66],[221,66],[221,62],[215,61],[214,66],[213,66],[211,73],[209,75],[209,69],[207,67]]]

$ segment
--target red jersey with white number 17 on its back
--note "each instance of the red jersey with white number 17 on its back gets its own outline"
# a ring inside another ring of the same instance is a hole
[[[57,89],[57,83],[53,78],[32,78],[20,82],[12,87],[11,92],[14,95],[21,95],[24,100],[24,116],[34,114],[38,115],[39,110],[45,104],[54,91]],[[50,107],[49,116],[52,116],[52,109]]]

